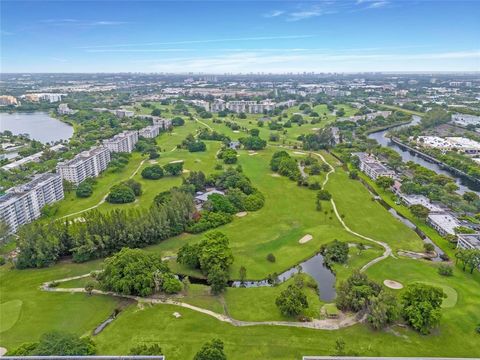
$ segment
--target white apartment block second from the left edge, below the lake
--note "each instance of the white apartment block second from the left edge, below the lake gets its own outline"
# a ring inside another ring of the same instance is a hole
[[[83,151],[72,160],[57,164],[57,172],[62,179],[75,185],[87,178],[97,177],[110,162],[110,151],[106,147],[94,147]]]

